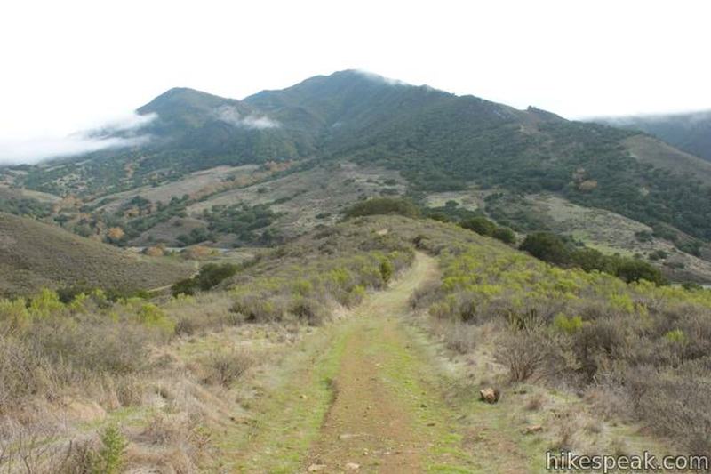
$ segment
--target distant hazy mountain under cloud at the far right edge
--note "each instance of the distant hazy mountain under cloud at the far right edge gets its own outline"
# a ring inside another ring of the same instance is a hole
[[[640,130],[677,149],[711,161],[711,110],[658,116],[623,116],[598,122]]]

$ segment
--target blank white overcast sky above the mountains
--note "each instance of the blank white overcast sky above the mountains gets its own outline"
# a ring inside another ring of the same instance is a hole
[[[709,5],[7,1],[0,155],[174,86],[241,99],[344,68],[569,118],[711,108]]]

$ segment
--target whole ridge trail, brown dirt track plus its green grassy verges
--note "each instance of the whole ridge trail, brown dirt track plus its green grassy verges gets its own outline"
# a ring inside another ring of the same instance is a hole
[[[409,298],[437,277],[418,253],[387,290],[369,294],[293,349],[278,382],[265,387],[260,415],[241,441],[227,443],[236,472],[523,472],[483,469],[442,397],[440,367],[406,327]],[[470,445],[470,444],[469,444]],[[517,458],[517,456],[513,456]]]

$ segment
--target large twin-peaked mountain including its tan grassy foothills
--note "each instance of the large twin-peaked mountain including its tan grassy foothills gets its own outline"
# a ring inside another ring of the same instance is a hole
[[[556,227],[537,204],[549,194],[684,252],[711,240],[709,163],[539,108],[346,70],[244,100],[176,88],[137,112],[152,118],[147,143],[10,168],[4,181],[76,197],[47,220],[99,237],[122,227],[124,245],[264,245],[380,194],[461,203],[521,232]],[[86,229],[81,213],[107,225]]]

